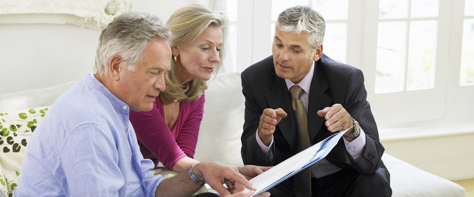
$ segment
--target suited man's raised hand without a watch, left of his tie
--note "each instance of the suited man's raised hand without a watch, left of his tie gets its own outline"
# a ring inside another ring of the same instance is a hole
[[[263,110],[262,116],[260,116],[260,123],[258,124],[258,137],[260,137],[263,144],[266,146],[270,145],[276,125],[287,115],[288,114],[281,108],[267,108]]]

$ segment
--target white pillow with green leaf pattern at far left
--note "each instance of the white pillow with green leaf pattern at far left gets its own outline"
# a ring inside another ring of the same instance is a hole
[[[18,186],[20,167],[31,134],[49,107],[0,111],[0,189],[11,197]]]

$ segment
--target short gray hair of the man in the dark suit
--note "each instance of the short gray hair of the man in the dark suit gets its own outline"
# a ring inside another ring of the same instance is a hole
[[[275,29],[298,34],[302,31],[311,33],[308,43],[313,49],[322,44],[326,23],[321,14],[307,5],[298,5],[285,9],[278,15]]]

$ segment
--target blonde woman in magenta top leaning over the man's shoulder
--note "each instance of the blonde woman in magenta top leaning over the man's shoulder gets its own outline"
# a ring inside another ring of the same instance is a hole
[[[204,90],[211,74],[221,67],[228,20],[204,6],[190,5],[175,11],[166,24],[173,33],[166,89],[156,97],[151,111],[130,111],[130,122],[144,158],[183,173],[199,163],[193,157],[204,113]],[[268,167],[238,169],[251,178]]]

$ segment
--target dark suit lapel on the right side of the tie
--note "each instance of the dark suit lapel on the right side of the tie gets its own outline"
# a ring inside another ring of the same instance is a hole
[[[311,81],[310,97],[308,102],[308,132],[310,141],[314,142],[317,132],[326,122],[324,117],[317,115],[317,111],[330,107],[332,99],[325,94],[329,89],[329,82],[324,74],[321,60],[315,62],[315,73]],[[291,109],[291,108],[290,108]]]

